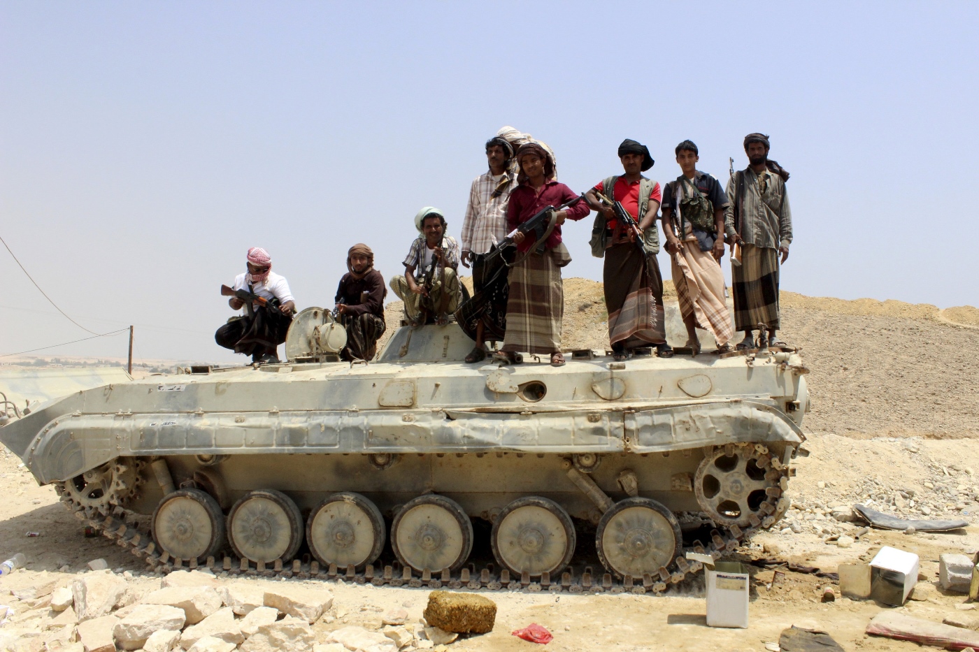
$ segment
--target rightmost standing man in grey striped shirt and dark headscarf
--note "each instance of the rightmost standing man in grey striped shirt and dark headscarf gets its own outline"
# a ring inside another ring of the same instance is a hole
[[[737,349],[754,347],[753,331],[761,325],[760,344],[785,346],[775,337],[778,330],[778,256],[784,263],[792,243],[792,211],[785,193],[789,173],[769,161],[769,137],[749,133],[744,137],[748,167],[727,181],[724,231],[732,248],[731,280],[734,293],[734,329],[744,331]]]

